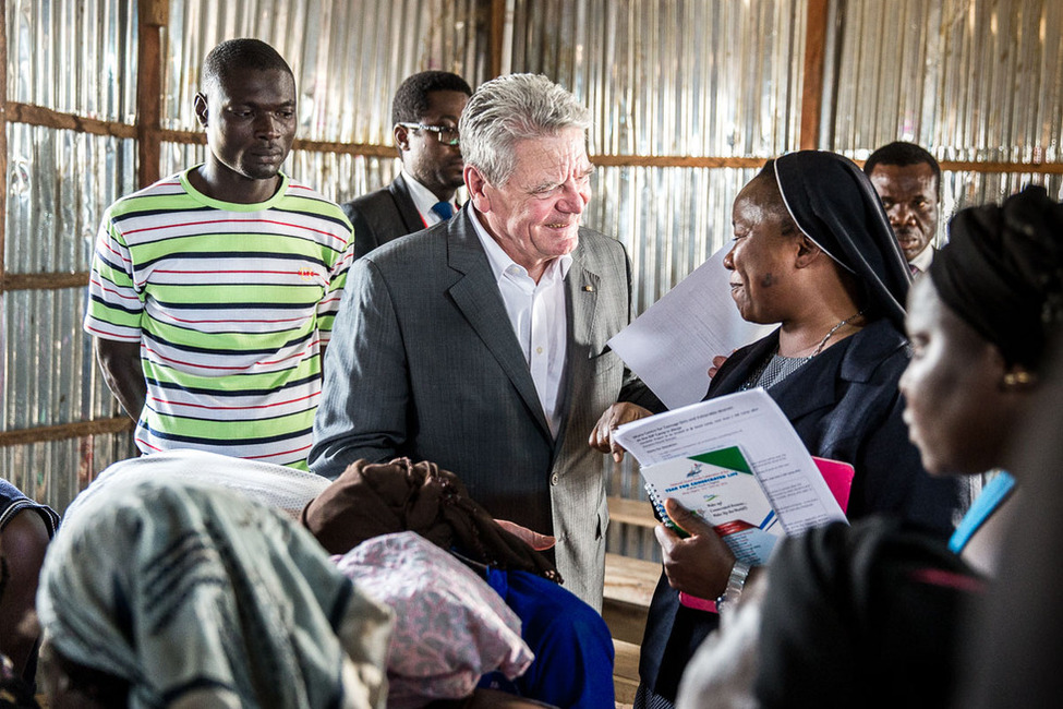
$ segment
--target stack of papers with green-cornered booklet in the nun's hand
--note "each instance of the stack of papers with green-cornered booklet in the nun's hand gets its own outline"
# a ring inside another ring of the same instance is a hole
[[[782,533],[845,520],[778,405],[750,389],[627,423],[614,440],[641,466],[651,500],[697,512],[740,561],[762,564]]]

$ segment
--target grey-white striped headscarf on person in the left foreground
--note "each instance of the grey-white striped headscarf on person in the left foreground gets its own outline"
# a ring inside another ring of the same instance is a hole
[[[104,478],[41,572],[59,653],[128,681],[134,708],[384,706],[390,612],[307,531],[198,479]]]

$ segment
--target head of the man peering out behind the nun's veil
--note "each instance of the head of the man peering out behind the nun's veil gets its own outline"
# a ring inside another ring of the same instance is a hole
[[[903,141],[883,145],[863,164],[911,275],[930,267],[941,204],[941,167],[925,148]]]

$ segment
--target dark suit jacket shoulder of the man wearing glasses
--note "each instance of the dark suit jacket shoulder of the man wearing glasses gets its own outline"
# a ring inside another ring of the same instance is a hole
[[[410,188],[400,172],[390,184],[340,205],[354,225],[354,257],[380,244],[424,229]]]

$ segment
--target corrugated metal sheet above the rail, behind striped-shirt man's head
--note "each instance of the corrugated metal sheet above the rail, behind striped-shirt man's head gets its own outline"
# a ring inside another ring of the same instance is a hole
[[[257,37],[288,60],[299,92],[299,136],[390,144],[391,96],[426,69],[470,84],[485,73],[482,0],[189,0],[170,3],[164,125],[196,130],[200,65],[219,41]]]

